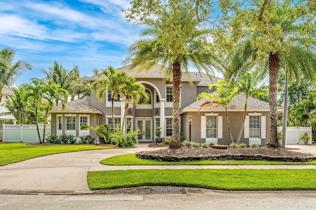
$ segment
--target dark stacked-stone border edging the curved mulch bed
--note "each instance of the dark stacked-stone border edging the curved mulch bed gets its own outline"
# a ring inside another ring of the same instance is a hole
[[[263,154],[219,154],[219,155],[200,155],[200,156],[173,156],[162,154],[146,154],[136,152],[136,156],[142,159],[180,162],[180,161],[194,161],[194,160],[269,160],[269,161],[284,161],[284,162],[307,162],[316,159],[316,156],[309,157],[282,157],[282,156],[265,156]]]

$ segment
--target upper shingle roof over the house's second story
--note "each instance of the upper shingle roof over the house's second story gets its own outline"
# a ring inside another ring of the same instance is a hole
[[[137,72],[136,68],[130,69],[130,65],[122,66],[117,68],[117,71],[125,71],[131,76],[135,78],[165,78],[165,67],[162,65],[155,65],[153,68],[151,68],[149,71],[141,71]],[[217,81],[220,79],[218,77],[209,78],[209,76],[204,72],[190,72],[191,80],[199,82],[197,86],[209,86],[211,84],[217,84]],[[92,76],[87,78],[88,81],[96,81],[99,78],[104,77],[104,75],[101,76]],[[183,74],[181,81],[188,81],[188,75]]]

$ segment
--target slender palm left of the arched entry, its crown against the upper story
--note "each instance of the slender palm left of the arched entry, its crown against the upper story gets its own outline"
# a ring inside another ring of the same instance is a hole
[[[109,66],[107,69],[103,69],[100,73],[101,77],[97,81],[91,84],[91,90],[96,91],[97,98],[100,102],[103,102],[103,95],[106,91],[111,91],[111,102],[112,102],[112,124],[115,128],[114,123],[114,100],[118,97],[118,93],[121,91],[121,87],[126,83],[127,74],[124,71],[116,71],[113,66]],[[115,131],[115,129],[113,129]]]

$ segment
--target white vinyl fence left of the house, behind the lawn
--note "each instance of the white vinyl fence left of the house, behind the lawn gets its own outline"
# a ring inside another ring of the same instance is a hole
[[[45,134],[50,135],[50,124],[46,124]],[[43,136],[44,125],[40,124],[40,137]],[[40,142],[36,125],[29,124],[2,124],[2,141],[3,142]]]

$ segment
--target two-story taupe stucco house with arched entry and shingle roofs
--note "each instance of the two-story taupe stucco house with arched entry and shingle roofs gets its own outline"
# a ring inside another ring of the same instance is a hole
[[[136,81],[144,84],[146,93],[150,100],[147,104],[129,105],[125,126],[129,123],[134,129],[140,129],[139,142],[154,142],[154,131],[156,126],[162,127],[162,138],[172,134],[172,85],[165,80],[163,74],[159,73],[159,66],[155,66],[148,72],[135,74],[135,69],[123,66],[117,69],[125,71],[134,76]],[[90,77],[89,81],[96,81],[98,77]],[[212,80],[205,74],[191,72],[193,86],[189,83],[186,75],[181,80],[181,100],[180,100],[180,131],[184,132],[189,140],[189,116],[191,122],[191,141],[214,142],[215,144],[230,143],[227,123],[225,120],[225,109],[223,107],[203,108],[197,114],[200,105],[206,101],[201,99],[196,102],[197,95],[208,90],[210,84],[216,84],[219,78]],[[230,125],[234,139],[237,139],[240,124],[242,122],[245,96],[237,95],[229,105]],[[77,99],[67,103],[66,110],[62,111],[61,106],[55,107],[51,113],[51,133],[53,135],[72,134],[76,137],[90,134],[93,131],[80,130],[81,124],[96,126],[108,123],[111,128],[123,121],[125,104],[120,99],[114,101],[115,122],[113,126],[111,114],[111,92],[104,95],[104,102],[101,103],[96,98],[96,93],[91,93],[90,97]],[[281,111],[281,110],[279,110]],[[264,145],[269,141],[269,103],[249,97],[248,114],[241,142],[250,144],[256,142]]]

